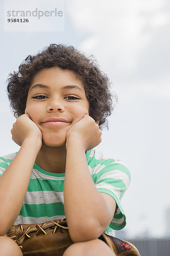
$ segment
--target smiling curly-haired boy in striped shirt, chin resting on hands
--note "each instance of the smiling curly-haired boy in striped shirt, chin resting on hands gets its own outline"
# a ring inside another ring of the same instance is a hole
[[[92,60],[64,45],[29,55],[10,74],[12,139],[21,147],[0,158],[0,255],[22,255],[4,237],[13,223],[65,216],[74,244],[63,256],[114,255],[98,237],[126,225],[120,199],[130,173],[93,149],[112,111],[108,87]]]

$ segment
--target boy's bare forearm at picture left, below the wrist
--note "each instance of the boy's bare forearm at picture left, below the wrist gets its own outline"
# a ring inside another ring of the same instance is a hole
[[[0,177],[0,235],[6,233],[20,212],[40,146],[36,137],[24,140],[16,157]]]

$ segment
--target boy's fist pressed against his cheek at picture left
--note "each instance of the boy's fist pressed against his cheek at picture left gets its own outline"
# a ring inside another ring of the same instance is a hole
[[[33,122],[28,113],[19,116],[14,122],[11,129],[12,140],[14,140],[17,145],[22,145],[26,138],[37,137],[42,143],[42,133],[38,126]]]

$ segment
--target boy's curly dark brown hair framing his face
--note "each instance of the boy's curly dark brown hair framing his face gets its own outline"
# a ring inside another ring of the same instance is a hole
[[[109,116],[116,103],[116,93],[110,92],[111,82],[107,75],[95,63],[94,56],[86,55],[73,46],[50,44],[37,55],[29,55],[19,66],[17,72],[9,74],[7,90],[10,105],[17,118],[24,114],[29,87],[35,75],[46,68],[59,67],[71,70],[84,85],[86,98],[89,101],[89,115],[100,120],[99,127],[108,128]]]

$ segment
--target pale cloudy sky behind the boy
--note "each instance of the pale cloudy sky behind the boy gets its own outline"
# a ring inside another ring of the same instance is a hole
[[[131,172],[122,199],[127,215],[123,232],[129,238],[165,236],[170,208],[170,2],[65,0],[63,31],[7,32],[5,1],[0,0],[0,155],[19,150],[10,133],[15,118],[6,96],[9,73],[50,43],[94,55],[118,95],[109,130],[102,132],[97,148],[123,160]],[[41,1],[30,2],[41,7]],[[49,9],[54,2],[48,1]]]

